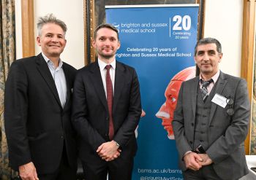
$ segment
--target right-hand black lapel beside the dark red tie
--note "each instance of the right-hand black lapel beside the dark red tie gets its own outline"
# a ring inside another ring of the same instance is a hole
[[[116,61],[116,74],[115,74],[115,86],[114,86],[114,97],[113,97],[113,110],[115,111],[118,104],[118,100],[121,95],[121,90],[124,87],[124,66],[121,66],[118,61]]]

